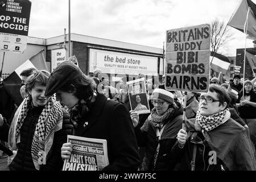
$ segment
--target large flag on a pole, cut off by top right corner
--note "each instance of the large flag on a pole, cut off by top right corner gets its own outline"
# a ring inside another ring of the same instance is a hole
[[[256,5],[250,0],[242,0],[236,13],[230,18],[228,25],[256,40]]]

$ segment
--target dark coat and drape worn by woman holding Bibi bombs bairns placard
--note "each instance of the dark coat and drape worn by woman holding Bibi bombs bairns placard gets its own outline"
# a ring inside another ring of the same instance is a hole
[[[246,130],[232,118],[213,130],[195,131],[195,119],[186,122],[188,140],[180,170],[191,170],[196,145],[195,171],[254,171],[255,159]],[[177,146],[175,146],[177,147]]]

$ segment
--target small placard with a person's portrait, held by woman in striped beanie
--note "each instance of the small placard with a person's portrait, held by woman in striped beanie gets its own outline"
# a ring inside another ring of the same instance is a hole
[[[150,113],[145,78],[127,81],[127,89],[129,92],[131,110],[136,111],[138,114]]]

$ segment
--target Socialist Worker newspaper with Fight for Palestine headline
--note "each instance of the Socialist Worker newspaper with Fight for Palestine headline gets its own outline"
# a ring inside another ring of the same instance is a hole
[[[64,160],[63,171],[101,171],[109,165],[107,141],[68,135],[71,158]]]

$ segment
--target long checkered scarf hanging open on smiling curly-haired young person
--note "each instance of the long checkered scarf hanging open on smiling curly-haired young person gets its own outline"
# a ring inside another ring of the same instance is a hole
[[[20,128],[27,116],[29,110],[28,104],[30,102],[31,97],[26,97],[16,111],[17,114],[15,113],[14,121],[9,132],[12,137],[9,138],[9,141],[13,150],[15,150],[16,144],[20,142]],[[60,102],[56,101],[54,94],[49,98],[39,116],[32,139],[31,155],[36,169],[40,169],[40,164],[46,164],[47,154],[52,146],[54,133],[62,128],[62,122],[62,106]]]

